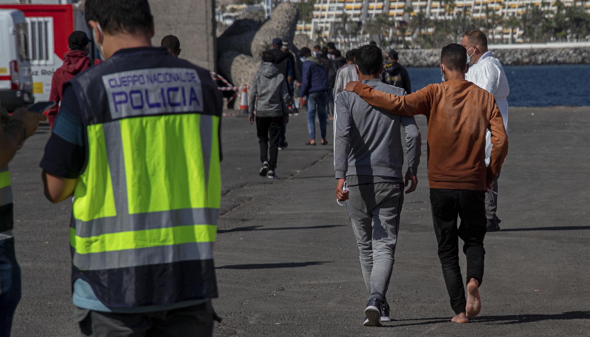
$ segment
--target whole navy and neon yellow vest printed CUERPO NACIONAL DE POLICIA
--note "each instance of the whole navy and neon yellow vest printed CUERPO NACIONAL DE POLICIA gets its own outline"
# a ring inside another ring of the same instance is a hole
[[[221,116],[209,72],[165,48],[123,49],[71,84],[87,136],[73,282],[113,307],[217,297]]]

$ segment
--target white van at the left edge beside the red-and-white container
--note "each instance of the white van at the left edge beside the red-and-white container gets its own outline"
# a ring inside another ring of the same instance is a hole
[[[34,101],[28,30],[17,9],[0,9],[0,104],[14,110]]]

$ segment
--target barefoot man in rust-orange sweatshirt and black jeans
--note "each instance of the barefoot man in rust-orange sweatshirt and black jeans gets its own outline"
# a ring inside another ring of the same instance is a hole
[[[441,84],[414,94],[397,96],[362,82],[349,82],[346,91],[382,111],[426,115],[428,121],[428,183],[438,257],[447,285],[451,320],[467,323],[481,310],[478,288],[484,271],[486,236],[485,192],[508,153],[508,139],[492,94],[465,80],[467,50],[450,44],[441,52]],[[491,131],[491,163],[486,167],[486,130]],[[457,227],[457,216],[461,224]],[[458,238],[467,256],[467,299],[459,267]]]

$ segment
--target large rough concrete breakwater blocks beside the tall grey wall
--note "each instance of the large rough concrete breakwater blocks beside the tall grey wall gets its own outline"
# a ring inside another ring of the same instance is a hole
[[[250,85],[274,38],[290,42],[291,52],[310,47],[309,38],[294,35],[298,19],[297,5],[283,3],[264,24],[252,18],[235,21],[217,40],[219,72],[238,87]]]

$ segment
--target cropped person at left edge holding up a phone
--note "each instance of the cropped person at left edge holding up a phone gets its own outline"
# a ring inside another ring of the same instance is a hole
[[[8,163],[35,133],[43,114],[20,108],[14,114],[0,107],[0,337],[10,336],[12,317],[21,299],[21,269],[14,253],[12,237],[12,189]]]

